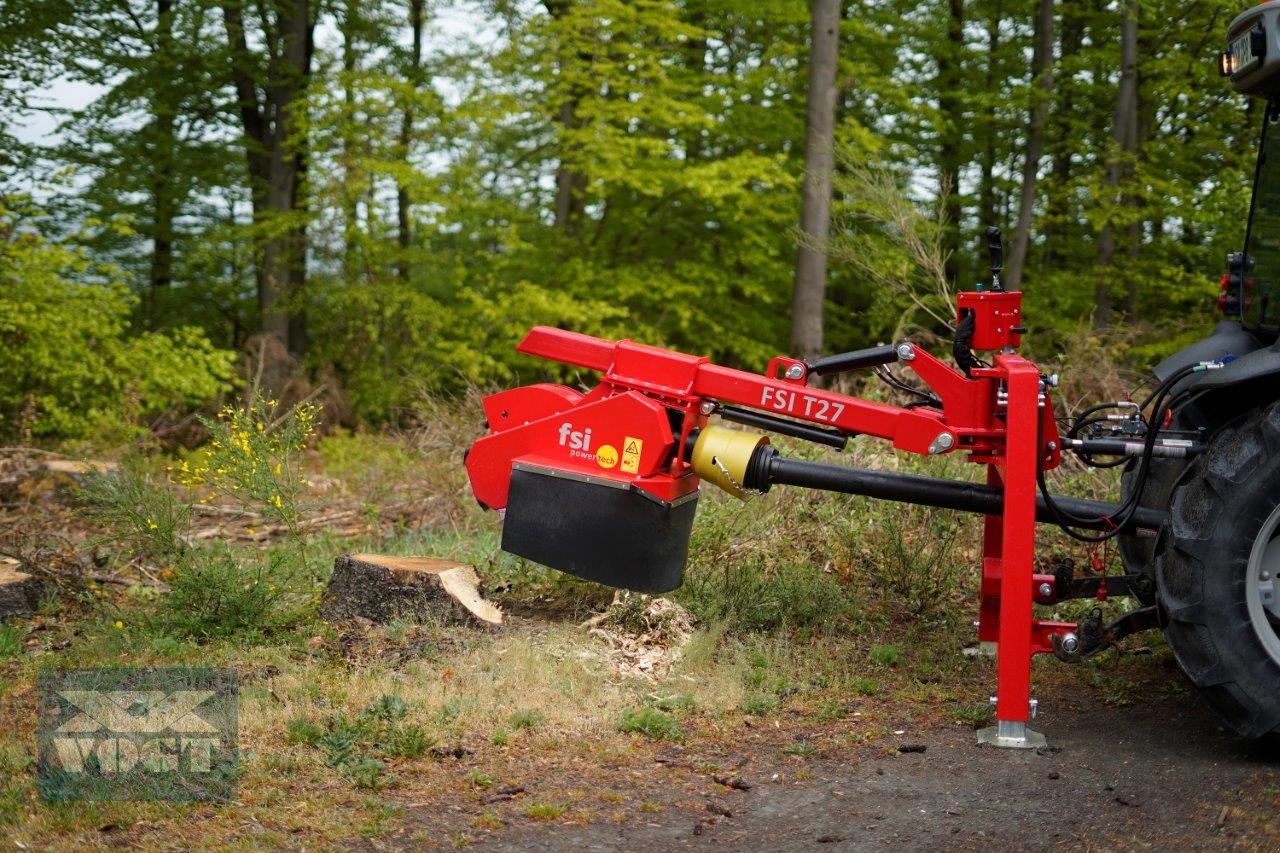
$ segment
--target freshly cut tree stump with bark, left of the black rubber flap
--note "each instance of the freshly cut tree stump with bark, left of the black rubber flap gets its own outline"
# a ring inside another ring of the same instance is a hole
[[[412,619],[499,628],[502,611],[480,594],[480,578],[465,562],[349,553],[333,562],[320,619],[379,624]]]

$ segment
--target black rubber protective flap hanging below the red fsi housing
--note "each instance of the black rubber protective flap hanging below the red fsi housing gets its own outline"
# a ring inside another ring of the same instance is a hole
[[[696,493],[667,505],[631,487],[517,467],[502,549],[609,587],[669,592],[685,576],[696,508]]]

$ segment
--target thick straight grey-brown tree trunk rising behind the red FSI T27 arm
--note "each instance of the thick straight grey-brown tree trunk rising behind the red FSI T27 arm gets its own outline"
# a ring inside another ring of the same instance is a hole
[[[791,301],[791,352],[822,355],[822,302],[827,289],[831,178],[836,161],[836,64],[840,56],[840,0],[810,0],[808,127],[800,251]]]

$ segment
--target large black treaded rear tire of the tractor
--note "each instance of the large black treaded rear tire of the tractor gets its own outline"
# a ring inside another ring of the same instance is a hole
[[[1280,403],[1220,430],[1178,483],[1156,548],[1165,635],[1236,733],[1280,733]]]

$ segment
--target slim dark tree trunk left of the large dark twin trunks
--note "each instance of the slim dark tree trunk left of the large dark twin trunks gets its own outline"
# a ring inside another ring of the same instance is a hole
[[[173,3],[156,1],[155,59],[157,79],[172,79],[177,72],[173,55]],[[151,287],[147,291],[147,327],[159,323],[160,292],[173,283],[173,220],[177,216],[177,187],[174,186],[174,159],[177,156],[178,105],[175,88],[159,86],[152,101],[154,145],[151,156],[154,175],[151,184]]]

